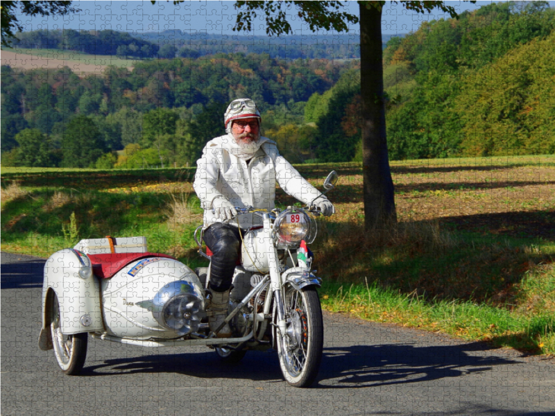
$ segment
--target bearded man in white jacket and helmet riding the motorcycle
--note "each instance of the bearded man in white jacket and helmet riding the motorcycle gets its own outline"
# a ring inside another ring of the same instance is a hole
[[[308,204],[321,192],[303,179],[280,155],[274,141],[260,135],[262,118],[253,100],[239,98],[225,110],[226,135],[210,140],[196,162],[194,190],[204,209],[204,241],[212,251],[210,263],[210,329],[215,330],[228,311],[231,281],[240,254],[239,227],[262,224],[253,214],[236,216],[235,207],[273,209],[275,182],[289,195]],[[334,214],[325,196],[316,205],[325,216]],[[243,231],[241,231],[243,232]],[[226,324],[219,337],[231,336]]]

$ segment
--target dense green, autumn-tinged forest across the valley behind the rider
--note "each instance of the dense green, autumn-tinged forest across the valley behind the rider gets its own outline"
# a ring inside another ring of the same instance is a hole
[[[390,159],[555,153],[554,15],[545,1],[492,3],[388,40]],[[189,166],[243,96],[291,162],[361,160],[359,60],[248,49],[181,57],[181,40],[177,58],[101,76],[2,67],[3,166]],[[157,48],[143,42],[136,51]]]

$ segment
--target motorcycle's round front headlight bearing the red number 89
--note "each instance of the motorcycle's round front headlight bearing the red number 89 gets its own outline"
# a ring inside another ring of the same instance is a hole
[[[316,222],[301,209],[286,209],[273,225],[278,247],[292,247],[305,240],[308,244],[316,237]]]

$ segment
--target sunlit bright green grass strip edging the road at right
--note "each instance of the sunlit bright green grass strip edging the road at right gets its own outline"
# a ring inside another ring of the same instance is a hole
[[[547,290],[555,283],[549,273]],[[377,282],[341,285],[325,281],[321,290],[323,308],[332,313],[350,313],[376,322],[394,322],[404,327],[441,331],[466,340],[490,341],[498,347],[523,352],[555,353],[555,314],[552,311],[515,313],[488,304],[459,300],[427,300],[416,293],[404,294]]]

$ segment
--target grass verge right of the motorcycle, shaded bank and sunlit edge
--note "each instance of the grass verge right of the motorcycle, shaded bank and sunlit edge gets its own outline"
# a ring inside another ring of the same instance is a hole
[[[447,232],[438,222],[321,224],[324,309],[555,354],[555,245]],[[341,248],[339,248],[341,245]]]

